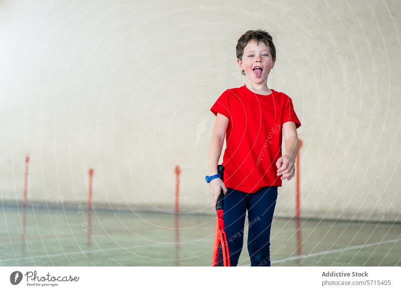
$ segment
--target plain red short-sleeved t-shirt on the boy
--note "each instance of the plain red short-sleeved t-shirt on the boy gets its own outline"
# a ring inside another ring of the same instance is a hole
[[[271,89],[269,95],[252,92],[246,85],[227,89],[210,109],[227,116],[223,156],[227,187],[253,193],[265,186],[281,186],[276,162],[281,157],[282,125],[301,126],[292,100]]]

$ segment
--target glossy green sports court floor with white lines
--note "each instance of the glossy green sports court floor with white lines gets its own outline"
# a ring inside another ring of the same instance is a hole
[[[2,266],[208,266],[215,216],[0,205]],[[246,247],[239,265],[250,265]],[[274,218],[272,266],[401,266],[401,223]]]

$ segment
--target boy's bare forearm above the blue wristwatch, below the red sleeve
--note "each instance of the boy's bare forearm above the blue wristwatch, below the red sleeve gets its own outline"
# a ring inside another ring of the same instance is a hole
[[[208,175],[217,173],[217,165],[222,154],[224,137],[226,136],[229,118],[217,113],[215,127],[213,128],[212,139],[209,147]]]

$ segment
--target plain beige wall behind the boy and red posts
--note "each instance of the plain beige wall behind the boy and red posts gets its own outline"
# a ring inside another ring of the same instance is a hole
[[[217,6],[211,7],[210,4]],[[285,3],[285,4],[284,4]],[[264,28],[269,87],[302,126],[304,217],[399,220],[399,1],[0,2],[0,194],[212,211],[204,181],[215,116],[244,84],[235,45]],[[398,64],[398,65],[397,65]],[[222,161],[222,160],[221,160]],[[293,215],[295,180],[277,215]]]

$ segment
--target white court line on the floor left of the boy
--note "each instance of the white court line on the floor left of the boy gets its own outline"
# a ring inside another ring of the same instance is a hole
[[[197,240],[190,240],[182,243],[190,243],[196,242]],[[23,257],[16,257],[16,258],[5,258],[0,259],[0,262],[4,261],[13,261],[13,260],[23,260],[23,259],[33,259],[33,258],[44,258],[44,257],[54,257],[54,256],[64,256],[64,255],[76,255],[76,254],[85,254],[85,253],[96,253],[96,252],[107,252],[113,250],[126,250],[131,248],[140,248],[140,247],[152,247],[152,246],[165,246],[165,245],[175,245],[175,242],[160,242],[160,243],[147,243],[147,244],[138,244],[138,245],[131,245],[131,246],[121,246],[121,247],[110,247],[110,248],[99,248],[93,250],[82,250],[82,251],[70,251],[70,252],[59,252],[59,253],[50,253],[50,254],[41,254],[41,255],[32,255],[32,256],[23,256]]]

